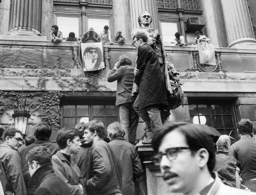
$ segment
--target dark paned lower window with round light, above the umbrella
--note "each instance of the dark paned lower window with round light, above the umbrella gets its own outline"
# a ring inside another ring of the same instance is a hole
[[[211,102],[211,101],[209,101]],[[206,124],[217,129],[222,135],[237,137],[235,106],[230,102],[207,103],[203,100],[189,101],[189,114],[191,123]]]

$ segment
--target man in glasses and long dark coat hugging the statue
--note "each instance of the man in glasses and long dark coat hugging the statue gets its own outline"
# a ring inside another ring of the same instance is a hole
[[[147,142],[150,143],[154,131],[162,126],[159,109],[168,103],[157,53],[147,44],[148,38],[144,31],[133,32],[133,46],[138,50],[134,83],[139,86],[134,110],[149,127],[146,133]]]

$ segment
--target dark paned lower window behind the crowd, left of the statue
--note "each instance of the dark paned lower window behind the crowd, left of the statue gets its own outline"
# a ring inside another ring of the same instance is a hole
[[[102,121],[105,127],[114,121],[118,121],[118,111],[116,105],[62,105],[61,107],[61,128],[75,127],[81,122],[89,122],[91,120]]]

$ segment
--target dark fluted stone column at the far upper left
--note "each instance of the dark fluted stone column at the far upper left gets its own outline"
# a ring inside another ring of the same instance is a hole
[[[41,18],[42,0],[11,0],[8,34],[42,36]]]

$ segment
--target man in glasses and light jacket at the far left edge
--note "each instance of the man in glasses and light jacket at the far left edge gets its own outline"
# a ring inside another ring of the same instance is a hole
[[[5,194],[27,194],[21,171],[21,158],[17,152],[23,144],[20,130],[7,129],[4,142],[0,145],[0,180]]]

